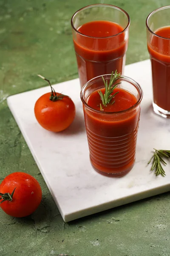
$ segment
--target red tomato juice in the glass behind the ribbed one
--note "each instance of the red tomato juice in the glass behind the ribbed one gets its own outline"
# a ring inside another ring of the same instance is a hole
[[[91,21],[78,28],[81,34],[74,38],[74,49],[81,87],[96,76],[115,70],[123,73],[127,50],[123,30],[119,24],[105,20]]]

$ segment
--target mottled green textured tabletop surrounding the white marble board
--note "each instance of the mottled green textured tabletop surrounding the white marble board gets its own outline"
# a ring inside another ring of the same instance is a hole
[[[127,64],[148,58],[145,19],[166,0],[101,0],[131,18]],[[96,0],[0,0],[0,179],[23,171],[43,199],[27,218],[0,210],[0,256],[170,256],[170,193],[65,224],[23,139],[6,97],[78,76],[70,19]],[[90,200],[90,198],[89,198]]]

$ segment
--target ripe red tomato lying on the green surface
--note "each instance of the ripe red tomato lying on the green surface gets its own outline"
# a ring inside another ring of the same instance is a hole
[[[34,177],[24,172],[14,172],[6,176],[0,184],[0,196],[0,207],[4,212],[13,217],[25,217],[39,206],[42,191]]]

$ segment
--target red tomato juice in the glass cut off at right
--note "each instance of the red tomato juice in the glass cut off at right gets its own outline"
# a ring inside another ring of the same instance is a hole
[[[154,33],[164,39],[153,35],[147,44],[152,64],[153,101],[160,108],[170,111],[170,26]]]

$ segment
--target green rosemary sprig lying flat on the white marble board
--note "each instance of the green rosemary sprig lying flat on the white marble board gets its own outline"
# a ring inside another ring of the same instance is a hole
[[[163,163],[164,165],[167,164],[164,161],[163,157],[166,157],[166,158],[170,157],[170,150],[157,150],[155,148],[153,149],[155,150],[155,152],[147,164],[149,164],[153,160],[151,171],[156,170],[155,172],[156,176],[159,174],[162,176],[165,176],[166,174],[164,172],[164,169],[162,168],[161,163]]]

